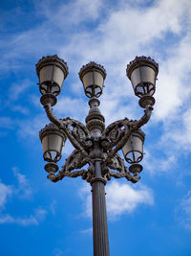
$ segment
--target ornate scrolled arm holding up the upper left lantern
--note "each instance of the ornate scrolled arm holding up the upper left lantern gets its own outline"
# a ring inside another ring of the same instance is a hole
[[[89,130],[80,122],[69,117],[58,119],[53,115],[53,108],[50,103],[44,105],[49,120],[59,129],[61,129],[70,140],[74,148],[87,155],[86,148],[92,146]]]

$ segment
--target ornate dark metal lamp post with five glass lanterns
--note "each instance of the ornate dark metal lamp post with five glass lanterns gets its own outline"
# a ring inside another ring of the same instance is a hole
[[[48,178],[57,182],[65,176],[81,176],[92,186],[94,255],[109,256],[109,239],[105,202],[105,185],[111,177],[125,177],[136,183],[142,166],[144,133],[141,127],[146,124],[153,110],[156,80],[159,65],[152,58],[137,57],[127,65],[127,76],[132,82],[135,94],[140,98],[139,105],[144,114],[139,120],[124,118],[105,128],[105,119],[98,108],[98,97],[102,94],[106,71],[103,66],[90,62],[79,71],[84,92],[90,98],[90,110],[85,119],[86,126],[72,118],[58,119],[53,115],[53,105],[60,93],[62,83],[68,76],[67,63],[56,55],[41,58],[36,64],[39,78],[40,99],[47,116],[52,122],[40,130],[43,157],[48,162],[45,170]],[[58,171],[66,139],[74,146],[74,151]],[[125,166],[118,154],[122,151]],[[87,170],[81,169],[89,165]],[[74,171],[75,170],[75,171]]]

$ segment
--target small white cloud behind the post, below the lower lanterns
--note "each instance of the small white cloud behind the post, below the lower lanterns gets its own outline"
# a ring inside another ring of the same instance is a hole
[[[129,184],[119,183],[116,180],[106,186],[106,201],[109,220],[133,213],[140,204],[153,205],[153,192],[146,186],[138,185],[134,189]],[[80,197],[84,200],[85,214],[92,217],[92,195],[90,186],[80,190]]]

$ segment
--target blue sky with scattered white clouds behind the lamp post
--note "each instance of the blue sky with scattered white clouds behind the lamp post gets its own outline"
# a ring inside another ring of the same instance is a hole
[[[191,255],[190,0],[3,0],[0,16],[0,254],[93,255],[90,185],[79,177],[54,184],[44,171],[38,131],[49,120],[34,65],[57,54],[69,76],[55,114],[84,123],[78,71],[94,60],[107,71],[106,125],[142,115],[126,64],[142,55],[159,62],[141,179],[106,187],[111,256]],[[67,143],[60,167],[71,151]]]

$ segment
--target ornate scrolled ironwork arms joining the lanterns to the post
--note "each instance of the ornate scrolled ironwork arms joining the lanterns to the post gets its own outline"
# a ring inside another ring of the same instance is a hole
[[[98,126],[101,116],[98,109],[95,110],[95,116],[91,120],[88,120],[87,126],[85,127],[80,122],[69,117],[57,119],[53,115],[53,109],[50,104],[44,105],[44,107],[49,119],[65,133],[75,148],[72,154],[66,159],[66,163],[61,171],[57,175],[54,173],[48,175],[53,182],[65,176],[81,176],[83,179],[91,182],[92,178],[95,177],[94,164],[97,158],[102,161],[102,174],[106,180],[110,180],[113,176],[116,178],[125,177],[133,183],[138,182],[139,174],[131,175],[125,166],[124,160],[119,156],[117,151],[122,149],[133,130],[138,130],[138,128],[149,121],[153,110],[152,106],[147,105],[144,115],[138,121],[124,118],[109,125],[104,129],[98,139],[95,139],[88,129],[90,127],[88,122],[92,122],[92,120],[95,120],[97,122],[96,126]],[[92,115],[94,115],[93,112]],[[81,169],[87,164],[89,165],[87,170],[73,171]],[[113,170],[116,170],[116,172]]]

